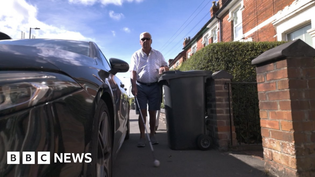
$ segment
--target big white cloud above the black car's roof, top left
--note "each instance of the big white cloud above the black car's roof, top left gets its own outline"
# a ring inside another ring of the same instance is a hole
[[[94,41],[83,36],[77,31],[68,31],[65,27],[56,27],[37,20],[37,8],[28,4],[25,0],[3,1],[0,6],[0,31],[8,34],[13,39],[21,38],[21,31],[25,32],[25,38],[31,34],[36,38],[72,39]]]

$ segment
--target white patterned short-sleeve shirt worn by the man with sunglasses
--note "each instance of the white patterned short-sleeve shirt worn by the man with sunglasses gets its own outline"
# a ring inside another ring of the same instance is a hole
[[[161,66],[168,67],[161,52],[151,49],[149,56],[147,56],[140,49],[132,55],[129,71],[137,72],[137,81],[153,83],[159,78],[159,68]]]

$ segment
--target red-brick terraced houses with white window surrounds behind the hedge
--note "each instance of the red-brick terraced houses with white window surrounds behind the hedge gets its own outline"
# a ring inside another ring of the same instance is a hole
[[[315,47],[315,0],[219,0],[212,2],[210,14],[192,39],[184,39],[183,51],[169,63],[171,69],[220,41],[301,39]]]

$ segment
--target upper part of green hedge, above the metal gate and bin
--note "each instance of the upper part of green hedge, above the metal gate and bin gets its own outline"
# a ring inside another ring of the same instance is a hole
[[[256,82],[255,66],[251,65],[251,60],[283,43],[286,42],[212,43],[198,50],[179,70],[226,70],[233,75],[234,82]]]

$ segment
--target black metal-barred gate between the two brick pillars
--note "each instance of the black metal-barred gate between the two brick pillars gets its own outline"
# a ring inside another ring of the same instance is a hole
[[[229,90],[229,94],[232,94],[229,95],[230,97],[232,96],[232,105],[229,104],[230,117],[232,117],[231,113],[233,113],[233,123],[238,141],[237,145],[233,145],[231,138],[231,145],[243,146],[261,144],[262,138],[257,83],[232,82],[229,83],[229,89],[230,88],[232,89],[232,92]],[[232,126],[230,128],[232,134]]]

